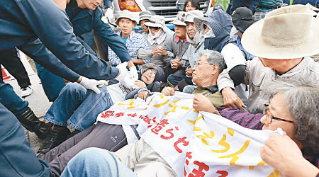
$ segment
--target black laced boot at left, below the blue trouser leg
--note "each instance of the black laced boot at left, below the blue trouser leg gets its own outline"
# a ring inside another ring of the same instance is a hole
[[[52,126],[52,123],[50,122],[46,123],[40,121],[30,108],[28,108],[28,110],[24,113],[16,115],[16,118],[18,118],[23,127],[30,132],[35,132],[35,135],[37,135],[40,139],[47,137]]]

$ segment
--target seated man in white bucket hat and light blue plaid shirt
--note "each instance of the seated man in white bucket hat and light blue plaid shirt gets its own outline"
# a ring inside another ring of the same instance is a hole
[[[127,10],[121,11],[120,16],[118,16],[118,19],[116,20],[116,25],[120,28],[118,35],[120,35],[121,40],[123,40],[128,48],[130,59],[135,65],[140,65],[150,62],[150,59],[138,59],[138,50],[140,48],[149,49],[149,47],[142,35],[133,31],[136,24],[137,21],[135,20],[134,13]],[[118,58],[110,47],[108,47],[108,59],[113,66],[121,63],[121,59]]]

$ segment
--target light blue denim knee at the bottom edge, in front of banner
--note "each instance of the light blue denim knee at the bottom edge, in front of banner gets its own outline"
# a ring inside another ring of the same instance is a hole
[[[67,168],[61,175],[61,177],[75,176],[137,177],[111,152],[96,147],[90,147],[79,152],[69,161]]]

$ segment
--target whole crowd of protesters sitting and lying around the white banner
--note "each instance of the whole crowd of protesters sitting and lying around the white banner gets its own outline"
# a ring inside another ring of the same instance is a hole
[[[319,18],[303,5],[276,9],[257,22],[247,7],[232,16],[218,8],[204,15],[198,8],[198,1],[186,1],[170,22],[174,31],[163,16],[120,12],[117,34],[131,60],[112,47],[108,59],[123,79],[101,81],[97,91],[66,84],[45,114],[47,127],[37,135],[47,140],[37,156],[51,175],[177,176],[140,139],[138,125],[95,122],[115,103],[181,91],[194,94],[195,110],[252,130],[281,128],[284,135],[271,135],[260,148],[262,159],[283,176],[318,176],[319,64],[310,56],[319,53]],[[142,34],[133,30],[138,23]]]

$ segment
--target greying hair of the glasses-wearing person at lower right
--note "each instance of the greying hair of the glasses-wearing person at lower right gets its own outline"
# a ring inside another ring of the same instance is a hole
[[[297,78],[276,80],[267,91],[271,97],[284,94],[286,108],[295,122],[295,139],[306,153],[319,154],[319,84]]]

